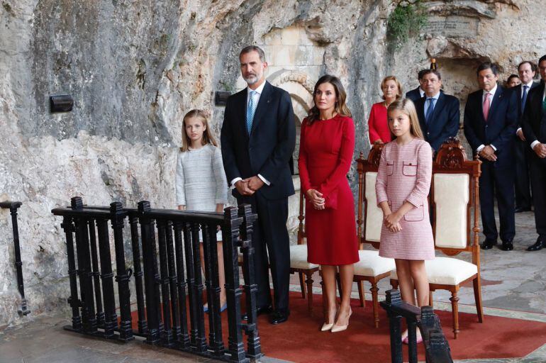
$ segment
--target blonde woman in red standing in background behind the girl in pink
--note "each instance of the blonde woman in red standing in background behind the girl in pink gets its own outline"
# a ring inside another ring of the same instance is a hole
[[[386,121],[386,108],[402,96],[402,85],[394,76],[387,76],[381,82],[381,96],[384,101],[372,105],[369,111],[368,131],[369,144],[389,143],[391,141],[391,130]]]

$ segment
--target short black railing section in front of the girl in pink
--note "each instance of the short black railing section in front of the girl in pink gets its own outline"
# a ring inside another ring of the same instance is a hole
[[[450,345],[445,339],[440,318],[432,306],[418,308],[402,301],[400,291],[386,291],[386,301],[381,306],[389,316],[391,330],[391,362],[402,363],[401,320],[406,319],[408,327],[408,357],[410,363],[417,363],[417,328],[423,337],[427,363],[452,363]]]

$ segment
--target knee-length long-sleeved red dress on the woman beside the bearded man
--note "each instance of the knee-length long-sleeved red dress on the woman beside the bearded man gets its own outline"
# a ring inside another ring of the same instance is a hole
[[[355,150],[352,118],[334,116],[301,125],[299,177],[304,192],[320,191],[326,208],[318,211],[306,201],[307,260],[313,264],[358,262],[355,202],[347,181]]]

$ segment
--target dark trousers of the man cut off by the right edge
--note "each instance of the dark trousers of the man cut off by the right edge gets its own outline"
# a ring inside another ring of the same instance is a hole
[[[535,204],[535,224],[537,233],[544,240],[546,238],[546,159],[530,155],[529,169]]]

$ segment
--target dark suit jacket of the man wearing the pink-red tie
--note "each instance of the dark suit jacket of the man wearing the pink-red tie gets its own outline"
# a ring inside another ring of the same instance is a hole
[[[468,95],[464,106],[464,136],[474,153],[479,145],[496,147],[497,167],[508,167],[513,162],[513,135],[516,133],[516,97],[511,91],[497,86],[489,116],[484,120],[481,89]]]

